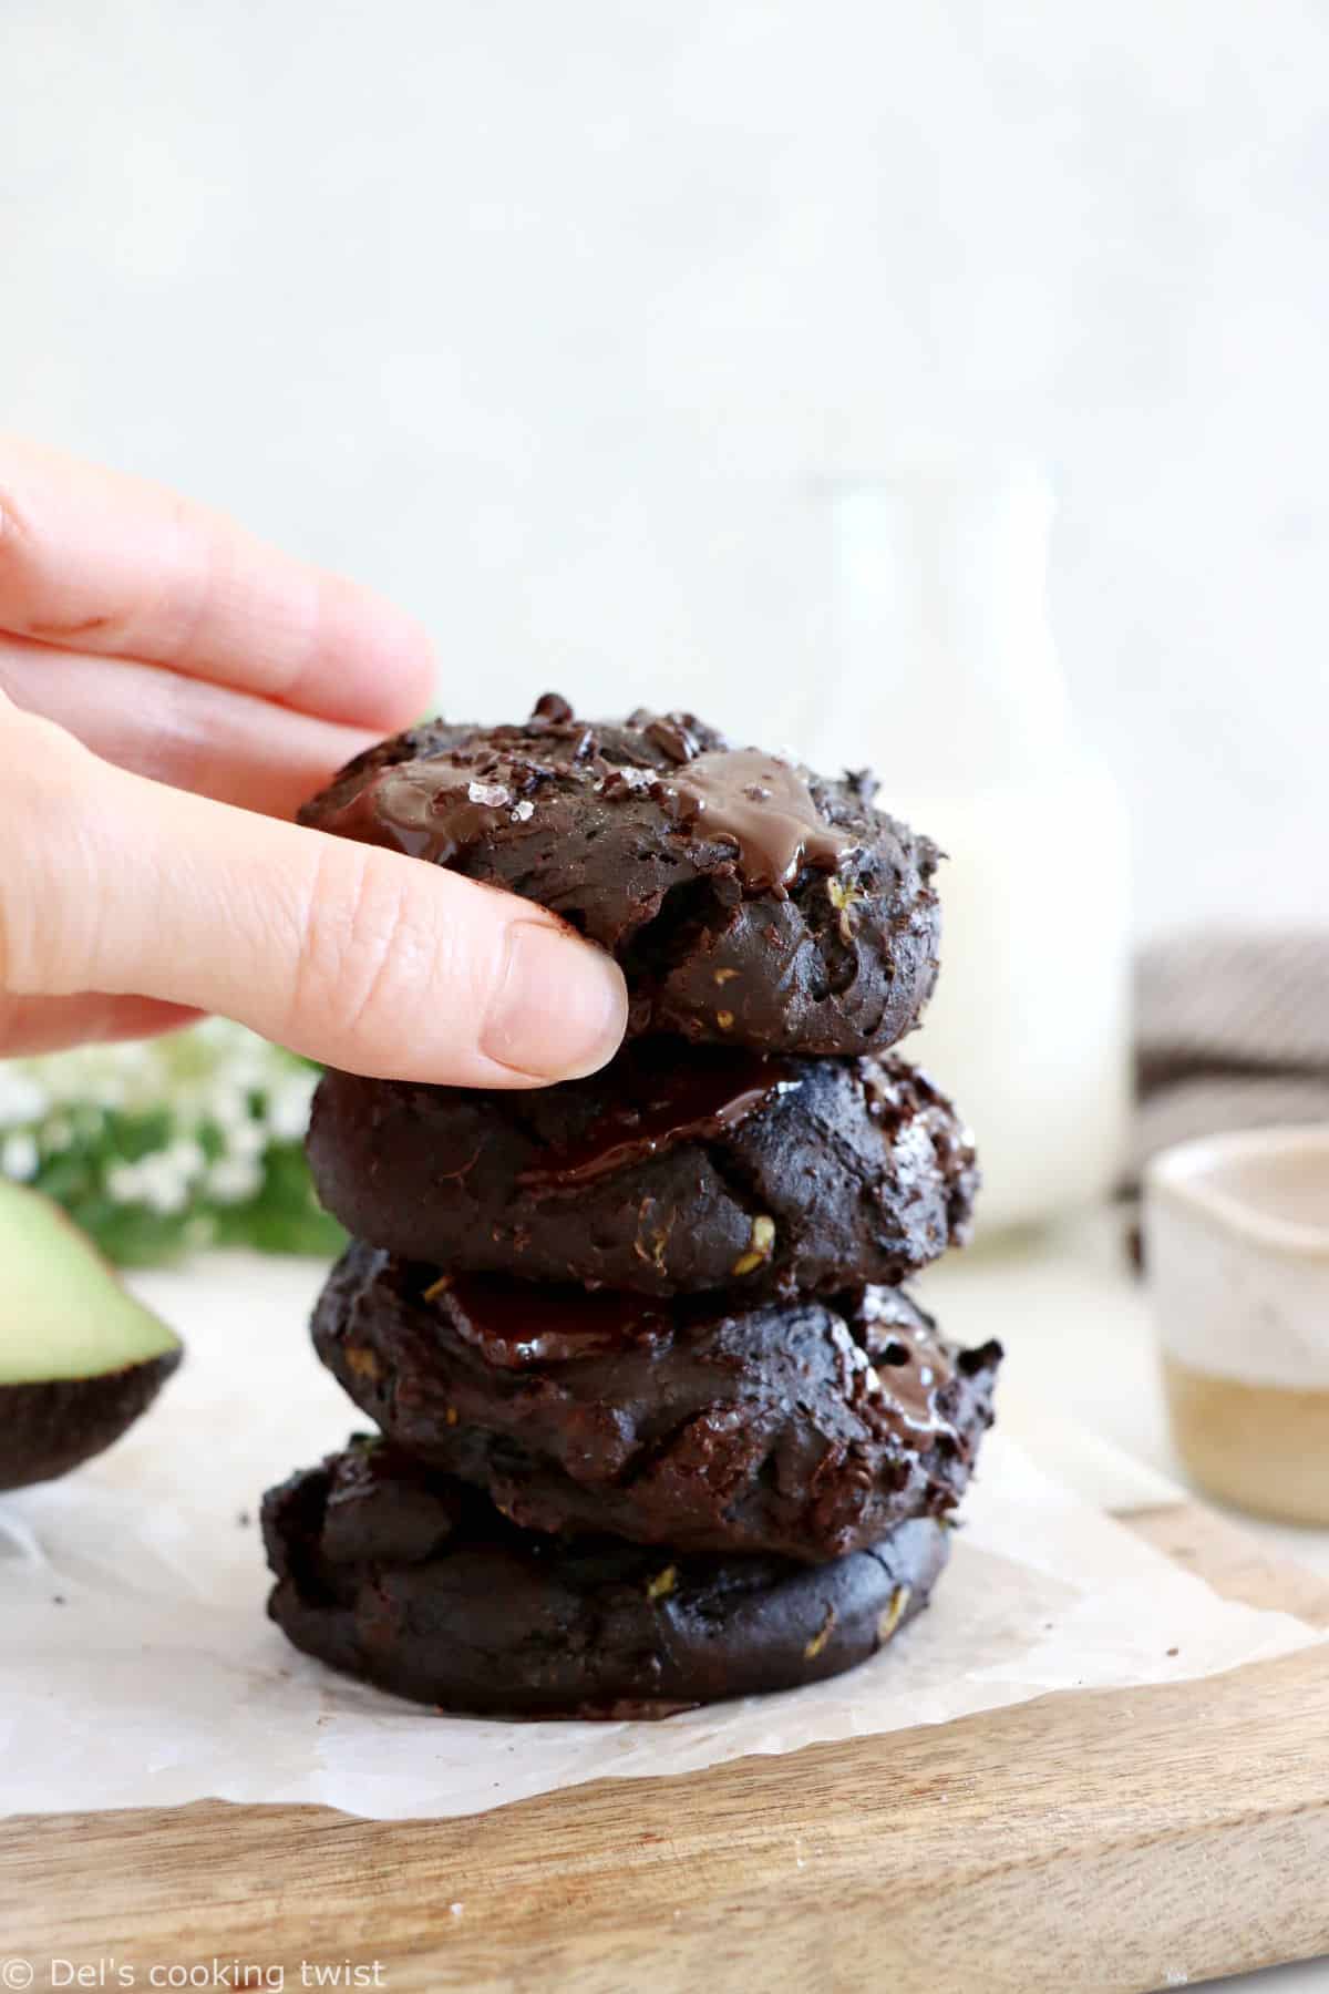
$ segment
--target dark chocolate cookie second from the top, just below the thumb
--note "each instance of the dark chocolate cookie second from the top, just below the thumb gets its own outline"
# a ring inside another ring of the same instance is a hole
[[[309,1161],[391,1252],[640,1294],[899,1282],[966,1238],[978,1188],[954,1109],[903,1061],[679,1039],[530,1093],[329,1073]]]

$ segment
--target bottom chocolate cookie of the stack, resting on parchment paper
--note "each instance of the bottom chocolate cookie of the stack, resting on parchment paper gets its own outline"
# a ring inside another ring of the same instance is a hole
[[[524,1717],[667,1717],[841,1675],[927,1605],[948,1551],[932,1517],[829,1565],[544,1537],[379,1440],[269,1490],[263,1539],[295,1647]]]

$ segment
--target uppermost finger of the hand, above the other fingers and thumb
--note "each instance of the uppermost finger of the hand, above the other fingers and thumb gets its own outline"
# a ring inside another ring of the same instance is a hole
[[[8,437],[0,630],[383,732],[434,692],[424,630],[371,590],[163,487]]]

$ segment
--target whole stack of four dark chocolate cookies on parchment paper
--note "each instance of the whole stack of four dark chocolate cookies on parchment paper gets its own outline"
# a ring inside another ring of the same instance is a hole
[[[355,1238],[313,1334],[379,1434],[269,1492],[273,1617],[456,1711],[665,1715],[865,1661],[929,1599],[1000,1360],[901,1286],[978,1182],[883,1057],[936,975],[934,847],[867,776],[552,694],[385,742],[303,820],[554,909],[632,1025],[550,1089],[323,1079]]]

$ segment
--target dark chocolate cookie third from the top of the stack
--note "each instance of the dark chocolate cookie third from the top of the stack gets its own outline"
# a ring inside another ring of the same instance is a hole
[[[809,1563],[958,1501],[1000,1360],[944,1344],[897,1288],[650,1302],[359,1242],[313,1338],[397,1448],[526,1529]]]

